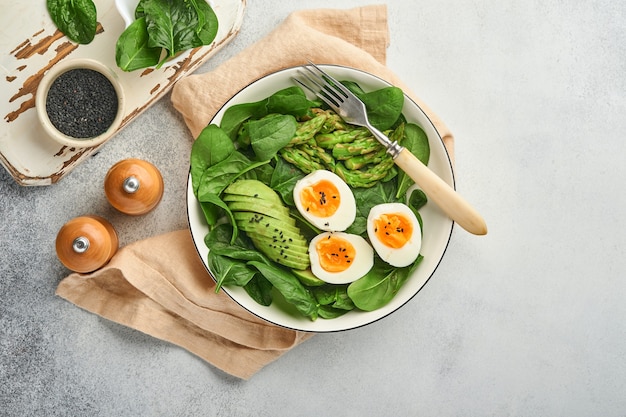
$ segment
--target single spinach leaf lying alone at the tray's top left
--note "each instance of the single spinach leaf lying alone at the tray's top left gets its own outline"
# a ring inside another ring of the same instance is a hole
[[[80,44],[93,41],[98,21],[92,0],[48,0],[46,5],[52,21],[65,36]]]

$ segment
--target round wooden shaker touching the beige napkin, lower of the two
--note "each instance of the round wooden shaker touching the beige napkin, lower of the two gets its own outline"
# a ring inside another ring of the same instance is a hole
[[[56,239],[59,260],[75,272],[87,273],[104,266],[119,247],[115,229],[100,216],[75,217],[65,223]]]

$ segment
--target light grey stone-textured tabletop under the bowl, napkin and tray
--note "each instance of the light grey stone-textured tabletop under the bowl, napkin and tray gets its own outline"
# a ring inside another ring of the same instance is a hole
[[[200,71],[296,8],[338,4],[251,0]],[[102,215],[122,244],[186,227],[191,143],[166,97],[56,185],[0,172],[0,415],[625,415],[626,5],[388,6],[388,64],[456,134],[457,188],[489,234],[455,228],[433,279],[392,316],[316,336],[250,381],[224,375],[54,295],[70,218]],[[102,191],[128,157],[165,180],[140,218]]]

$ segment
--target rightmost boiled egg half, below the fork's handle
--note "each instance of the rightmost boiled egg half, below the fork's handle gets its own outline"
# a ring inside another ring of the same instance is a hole
[[[422,247],[417,217],[402,203],[372,207],[367,217],[367,235],[378,256],[396,267],[412,264]]]

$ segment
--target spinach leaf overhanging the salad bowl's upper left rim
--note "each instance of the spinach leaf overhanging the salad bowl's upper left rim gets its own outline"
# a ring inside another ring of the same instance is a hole
[[[205,127],[191,146],[190,173],[194,194],[207,168],[222,162],[235,152],[235,145],[216,125]]]

